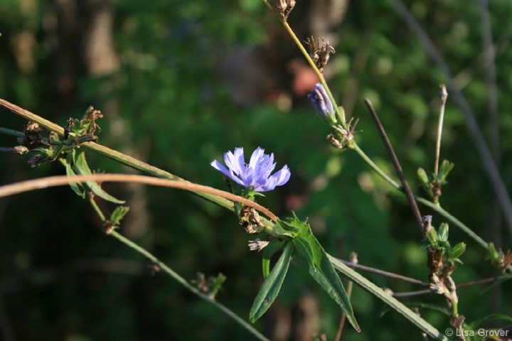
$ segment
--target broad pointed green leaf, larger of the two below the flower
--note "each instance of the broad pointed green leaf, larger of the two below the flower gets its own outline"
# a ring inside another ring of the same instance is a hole
[[[338,303],[348,322],[351,323],[354,329],[360,331],[343,283],[341,283],[341,279],[334,270],[331,261],[329,261],[326,251],[314,237],[309,225],[305,222],[301,222],[301,224],[303,225],[300,228],[301,233],[292,239],[299,256],[297,261],[299,261],[299,264],[302,261],[302,265],[308,268],[311,277]]]

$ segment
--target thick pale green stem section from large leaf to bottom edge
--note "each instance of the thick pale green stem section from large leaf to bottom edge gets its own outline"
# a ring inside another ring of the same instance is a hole
[[[358,286],[361,286],[361,288],[368,291],[368,293],[389,305],[390,308],[400,313],[400,315],[405,317],[413,325],[425,332],[430,337],[434,338],[435,340],[447,340],[447,338],[441,332],[439,332],[439,330],[430,325],[430,323],[427,323],[427,321],[423,320],[420,316],[407,308],[403,303],[400,303],[400,301],[398,301],[396,298],[393,298],[393,296],[390,296],[388,293],[383,291],[382,288],[375,286],[375,284],[368,281],[368,279],[361,276],[361,274],[358,274],[356,271],[350,269],[339,259],[336,259],[330,255],[328,256],[334,268],[340,271],[343,276],[346,276],[348,279],[355,282]]]

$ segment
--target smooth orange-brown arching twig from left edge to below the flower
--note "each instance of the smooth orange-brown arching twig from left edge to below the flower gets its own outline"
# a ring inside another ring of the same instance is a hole
[[[274,213],[267,210],[262,205],[257,204],[251,200],[247,200],[245,197],[234,195],[233,193],[218,190],[204,185],[198,185],[196,183],[188,183],[179,180],[167,180],[161,178],[152,178],[145,175],[127,175],[127,174],[92,174],[92,175],[57,175],[49,176],[47,178],[39,178],[34,180],[21,181],[19,183],[13,183],[11,185],[4,185],[0,187],[0,197],[6,197],[8,195],[14,195],[18,193],[28,192],[30,190],[40,190],[43,188],[55,187],[68,185],[70,183],[83,183],[85,181],[100,181],[100,182],[130,182],[130,183],[144,183],[146,185],[155,185],[162,187],[179,188],[181,190],[191,190],[196,192],[208,193],[210,195],[217,195],[228,200],[240,202],[249,207],[255,208],[267,215],[271,220],[277,221],[277,216]],[[233,205],[233,203],[232,203]]]

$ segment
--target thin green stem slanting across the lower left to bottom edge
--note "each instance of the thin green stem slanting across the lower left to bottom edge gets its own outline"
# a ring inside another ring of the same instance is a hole
[[[110,235],[112,237],[114,237],[115,239],[119,240],[119,242],[122,242],[123,244],[126,244],[127,247],[131,247],[135,251],[139,252],[139,254],[142,254],[143,256],[145,256],[147,259],[149,259],[154,264],[159,266],[159,268],[162,271],[164,271],[166,274],[169,274],[169,276],[174,278],[174,280],[178,281],[178,283],[181,283],[181,285],[183,285],[189,291],[192,291],[193,293],[195,293],[200,298],[203,298],[203,300],[207,301],[208,303],[211,303],[211,304],[215,305],[216,308],[222,310],[223,313],[228,315],[230,318],[233,318],[233,320],[235,320],[243,328],[245,328],[252,335],[257,337],[258,340],[269,341],[267,339],[267,337],[265,337],[265,335],[262,335],[260,332],[258,332],[254,327],[252,327],[252,325],[247,323],[245,320],[242,320],[242,318],[240,318],[240,316],[238,316],[237,314],[233,313],[233,311],[230,310],[225,305],[223,305],[221,303],[218,303],[217,301],[215,301],[212,298],[210,298],[210,296],[208,296],[208,295],[202,293],[201,291],[199,291],[198,288],[196,288],[195,286],[192,286],[190,283],[188,283],[186,281],[185,278],[183,278],[183,277],[179,276],[178,274],[176,274],[176,272],[174,272],[171,268],[169,268],[169,266],[166,266],[166,264],[164,264],[162,261],[160,261],[158,258],[156,258],[149,251],[146,251],[146,249],[143,249],[142,247],[139,247],[139,245],[135,244],[134,242],[132,242],[131,240],[129,240],[126,237],[122,236],[122,234],[119,234],[116,231],[112,231],[112,233],[110,233]]]

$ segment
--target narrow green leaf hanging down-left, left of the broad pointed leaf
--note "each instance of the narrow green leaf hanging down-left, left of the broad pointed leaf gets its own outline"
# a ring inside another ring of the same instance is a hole
[[[254,303],[252,303],[252,308],[249,314],[249,319],[252,323],[260,318],[265,311],[270,308],[270,305],[274,303],[279,290],[281,290],[284,277],[287,274],[289,261],[292,259],[293,251],[293,243],[286,242],[283,247],[283,253],[275,264],[274,269],[270,271],[269,276],[265,278],[260,291],[257,293]]]

